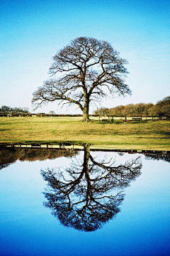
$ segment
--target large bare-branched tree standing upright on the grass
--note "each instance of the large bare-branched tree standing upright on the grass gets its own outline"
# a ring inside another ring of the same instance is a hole
[[[89,121],[89,105],[108,95],[130,94],[125,85],[127,60],[106,41],[81,37],[70,42],[54,56],[52,79],[33,93],[33,105],[48,102],[76,104]]]

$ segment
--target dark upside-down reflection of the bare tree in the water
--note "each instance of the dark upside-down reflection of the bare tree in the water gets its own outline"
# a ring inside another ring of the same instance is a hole
[[[111,161],[98,162],[90,154],[90,144],[83,146],[83,163],[74,161],[65,170],[41,170],[49,188],[44,193],[44,204],[62,225],[94,231],[120,211],[123,188],[140,176],[142,164],[140,157],[118,166]]]

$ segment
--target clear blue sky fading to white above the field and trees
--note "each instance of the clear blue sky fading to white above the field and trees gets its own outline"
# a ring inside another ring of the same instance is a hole
[[[132,96],[103,100],[103,107],[170,95],[170,1],[1,0],[0,10],[0,107],[32,111],[32,93],[49,78],[52,56],[79,36],[108,41],[129,62]],[[50,110],[66,113],[55,102],[37,112]]]

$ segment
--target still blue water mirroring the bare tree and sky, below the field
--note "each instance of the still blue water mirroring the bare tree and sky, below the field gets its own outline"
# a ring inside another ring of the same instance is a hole
[[[169,157],[0,151],[0,255],[170,255]]]

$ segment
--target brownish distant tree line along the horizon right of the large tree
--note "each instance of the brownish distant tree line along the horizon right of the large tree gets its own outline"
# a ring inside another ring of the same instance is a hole
[[[152,103],[138,103],[129,105],[120,105],[110,109],[101,107],[94,112],[96,115],[101,116],[127,116],[127,117],[167,117],[170,118],[170,96],[165,97],[163,100]]]

